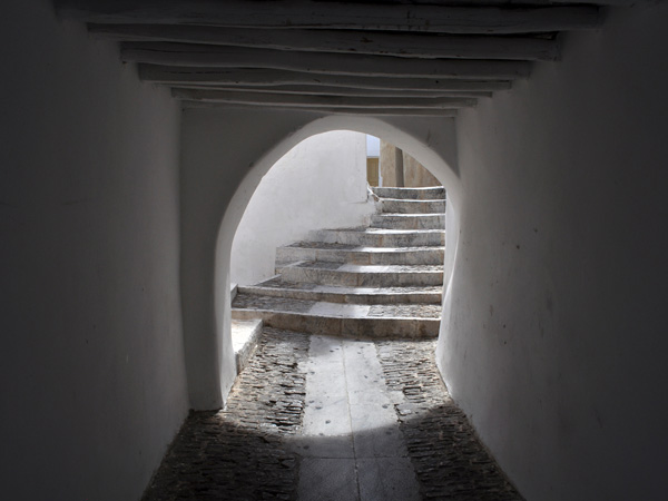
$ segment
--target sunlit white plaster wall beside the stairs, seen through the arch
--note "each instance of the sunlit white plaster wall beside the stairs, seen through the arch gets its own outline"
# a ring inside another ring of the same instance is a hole
[[[276,247],[312,229],[360,226],[375,206],[366,189],[366,137],[336,130],[310,137],[262,178],[232,247],[232,282],[275,274]]]

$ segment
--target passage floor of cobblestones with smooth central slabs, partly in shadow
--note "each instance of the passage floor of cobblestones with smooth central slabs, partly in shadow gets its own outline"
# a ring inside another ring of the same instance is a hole
[[[521,500],[434,345],[265,328],[227,407],[189,415],[144,500]]]

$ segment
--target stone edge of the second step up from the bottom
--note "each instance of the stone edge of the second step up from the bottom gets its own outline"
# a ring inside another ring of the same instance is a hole
[[[277,275],[278,276],[278,275]],[[275,277],[274,277],[275,278]],[[336,289],[340,291],[336,291]],[[294,287],[264,287],[261,284],[239,286],[239,293],[258,296],[284,297],[287,299],[324,301],[328,303],[346,304],[441,304],[442,292],[383,292],[382,288],[373,292],[356,292],[357,287],[327,287],[321,289]]]

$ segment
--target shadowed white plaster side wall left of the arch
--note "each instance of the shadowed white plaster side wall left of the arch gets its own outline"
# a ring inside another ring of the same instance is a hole
[[[188,410],[180,110],[50,1],[0,40],[0,497],[136,500]]]

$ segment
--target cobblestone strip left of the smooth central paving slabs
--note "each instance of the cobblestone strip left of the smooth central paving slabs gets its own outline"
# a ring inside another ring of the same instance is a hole
[[[143,501],[292,500],[308,336],[265,328],[220,412],[190,413]]]

